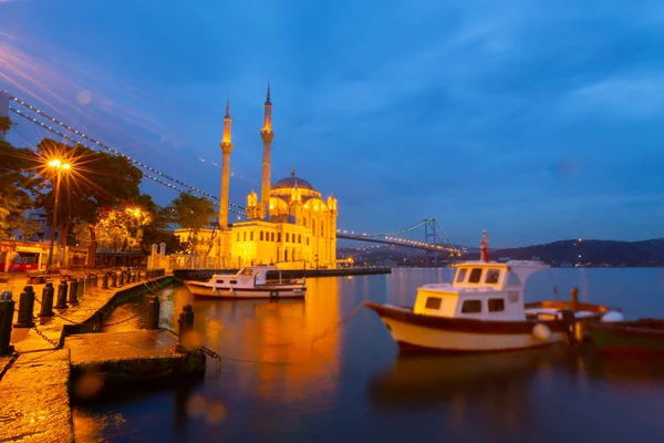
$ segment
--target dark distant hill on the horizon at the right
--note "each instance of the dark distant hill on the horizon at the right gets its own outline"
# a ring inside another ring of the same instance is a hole
[[[531,259],[560,266],[664,266],[664,238],[643,241],[560,240],[520,248],[489,249],[491,259]]]

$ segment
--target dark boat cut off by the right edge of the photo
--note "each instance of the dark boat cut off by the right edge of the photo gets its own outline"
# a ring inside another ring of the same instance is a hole
[[[664,354],[664,320],[591,324],[590,338],[603,353]]]

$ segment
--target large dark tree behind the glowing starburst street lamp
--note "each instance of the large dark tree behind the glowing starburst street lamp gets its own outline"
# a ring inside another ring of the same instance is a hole
[[[143,173],[126,157],[95,152],[82,145],[70,146],[51,138],[42,140],[37,151],[44,163],[50,158],[60,158],[71,164],[71,168],[61,173],[60,178],[60,241],[65,245],[73,224],[85,224],[90,231],[87,265],[92,266],[97,247],[95,225],[102,208],[123,206],[125,202],[136,199]],[[46,217],[52,223],[56,172],[48,166],[42,167],[41,172],[50,178],[45,184],[50,192],[39,195],[37,204],[45,209]]]

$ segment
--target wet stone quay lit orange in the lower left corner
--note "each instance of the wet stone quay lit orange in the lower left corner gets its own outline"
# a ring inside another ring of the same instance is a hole
[[[13,292],[15,322],[27,278],[3,277],[9,278],[0,282],[0,290]],[[180,352],[169,331],[82,333],[101,330],[116,306],[155,293],[172,280],[159,277],[121,288],[94,288],[80,297],[77,306],[54,309],[56,316],[44,322],[35,319],[34,328],[14,328],[10,340],[14,352],[0,357],[0,442],[73,442],[70,393],[94,396],[106,378],[122,382],[204,371],[205,356]],[[44,285],[32,286],[41,299]],[[34,305],[33,316],[41,308]]]

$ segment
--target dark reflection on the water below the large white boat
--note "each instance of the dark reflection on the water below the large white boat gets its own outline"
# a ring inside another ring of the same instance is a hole
[[[458,396],[483,396],[501,391],[527,403],[528,380],[539,370],[564,361],[562,347],[516,352],[404,356],[386,373],[369,383],[377,406],[427,406]],[[474,399],[476,401],[476,399]]]

